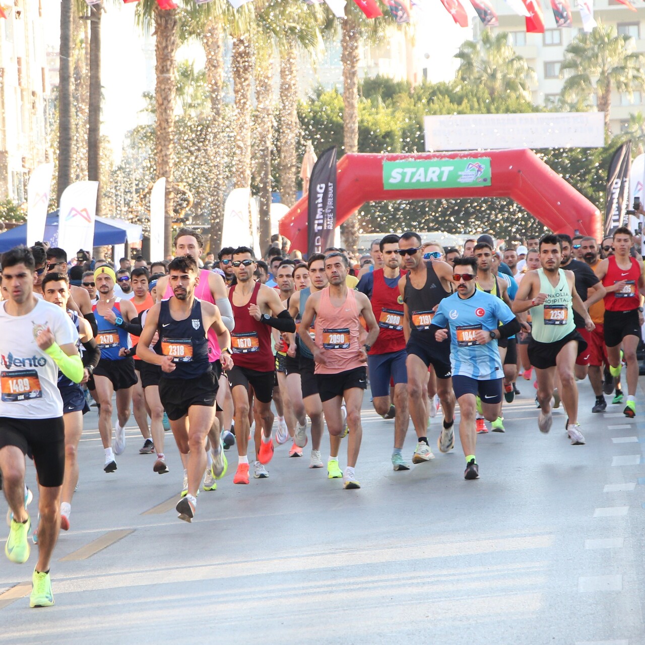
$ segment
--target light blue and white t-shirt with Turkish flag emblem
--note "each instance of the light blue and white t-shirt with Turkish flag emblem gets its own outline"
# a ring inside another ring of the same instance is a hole
[[[432,324],[450,331],[450,364],[453,376],[468,376],[477,381],[501,379],[504,376],[497,341],[485,345],[475,341],[478,329],[492,331],[499,323],[515,319],[508,305],[490,293],[475,290],[470,298],[453,293],[439,303]],[[444,341],[446,342],[446,341]]]

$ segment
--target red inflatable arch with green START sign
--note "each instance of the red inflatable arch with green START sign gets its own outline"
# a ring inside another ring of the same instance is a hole
[[[602,237],[599,210],[529,149],[346,154],[337,166],[336,224],[366,201],[460,197],[510,197],[555,233]],[[307,203],[303,195],[279,228],[303,253]]]

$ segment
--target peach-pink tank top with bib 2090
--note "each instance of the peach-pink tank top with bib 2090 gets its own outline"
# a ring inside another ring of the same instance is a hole
[[[325,350],[326,365],[316,363],[317,374],[337,374],[363,367],[359,359],[359,332],[361,321],[352,289],[339,308],[332,305],[329,287],[321,291],[321,302],[313,328],[316,332],[315,343]]]

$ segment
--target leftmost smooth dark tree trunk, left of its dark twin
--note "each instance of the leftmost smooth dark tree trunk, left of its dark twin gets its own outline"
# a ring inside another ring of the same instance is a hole
[[[72,183],[72,0],[61,0],[57,197]]]

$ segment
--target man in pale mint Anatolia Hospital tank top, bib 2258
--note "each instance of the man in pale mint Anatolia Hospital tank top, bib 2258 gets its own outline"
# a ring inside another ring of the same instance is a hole
[[[540,240],[541,268],[522,279],[513,312],[531,310],[533,327],[528,356],[537,375],[537,398],[541,407],[537,424],[541,432],[549,432],[553,423],[551,397],[557,370],[562,383],[560,394],[568,415],[566,430],[573,446],[584,444],[578,423],[578,388],[573,373],[576,356],[587,343],[577,332],[573,310],[584,320],[588,331],[593,322],[575,290],[573,273],[560,268],[562,243],[557,235],[544,235]]]

